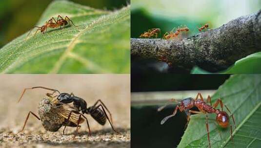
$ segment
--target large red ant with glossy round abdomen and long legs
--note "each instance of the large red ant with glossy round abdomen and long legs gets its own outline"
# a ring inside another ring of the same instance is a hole
[[[199,97],[200,97],[200,100],[198,100]],[[181,102],[178,102],[175,99],[171,99],[169,101],[171,101],[171,102],[175,101],[175,102],[179,103],[179,105],[177,105],[177,107],[175,108],[173,114],[171,114],[169,116],[166,116],[165,118],[163,118],[161,120],[161,125],[164,124],[170,117],[175,116],[177,111],[178,111],[178,109],[180,111],[185,111],[186,112],[188,121],[190,119],[190,113],[197,113],[197,114],[199,114],[199,113],[204,113],[204,114],[206,114],[206,113],[216,113],[217,114],[216,121],[222,128],[227,128],[228,125],[229,125],[229,116],[228,116],[228,114],[225,111],[223,111],[223,103],[222,103],[221,99],[218,99],[214,103],[214,105],[212,106],[211,98],[210,98],[209,95],[207,97],[207,102],[205,102],[203,97],[202,97],[202,95],[201,95],[201,93],[198,93],[198,95],[196,96],[195,99],[189,97],[189,98],[181,100]],[[207,104],[208,102],[210,102],[210,105]],[[216,107],[219,104],[221,106],[221,111],[219,109],[216,109]],[[167,105],[162,106],[161,108],[158,109],[158,111],[161,111],[166,106]],[[234,119],[233,114],[230,112],[230,110],[227,108],[226,105],[224,105],[224,106],[227,109],[227,111],[231,114],[233,122],[234,122],[234,125],[236,127],[236,123],[235,123],[235,119]],[[200,111],[191,111],[190,109],[193,108],[193,107],[197,107]],[[208,139],[209,148],[211,148],[210,138],[209,138],[209,129],[208,129],[208,115],[207,114],[206,114],[206,129],[207,129],[207,139]],[[230,125],[230,132],[231,132],[231,139],[233,141],[232,125]]]

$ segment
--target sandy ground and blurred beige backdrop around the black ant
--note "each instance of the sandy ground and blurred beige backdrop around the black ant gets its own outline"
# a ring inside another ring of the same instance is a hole
[[[30,116],[22,129],[28,111],[37,113],[38,103],[46,90],[29,90],[17,103],[23,88],[45,86],[60,92],[73,92],[84,98],[87,106],[101,99],[111,111],[114,127],[99,125],[90,115],[92,136],[86,123],[76,128],[63,127],[57,132],[46,131],[39,120]],[[8,74],[0,75],[0,147],[1,148],[130,148],[130,76],[129,74]]]

